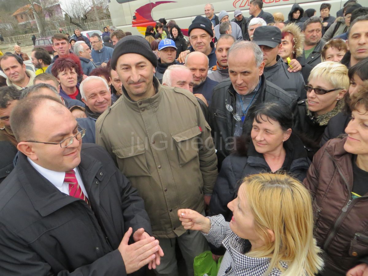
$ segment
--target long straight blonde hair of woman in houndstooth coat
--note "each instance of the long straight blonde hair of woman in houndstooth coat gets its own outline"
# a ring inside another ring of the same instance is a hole
[[[313,212],[309,191],[287,174],[253,174],[239,189],[254,215],[255,230],[265,245],[247,253],[254,258],[269,257],[270,265],[283,276],[312,276],[322,269],[321,250],[313,238]],[[271,240],[267,231],[275,233]],[[280,261],[287,262],[282,268]]]

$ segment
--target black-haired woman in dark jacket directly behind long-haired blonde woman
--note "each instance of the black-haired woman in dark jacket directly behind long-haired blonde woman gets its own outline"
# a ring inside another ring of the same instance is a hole
[[[266,102],[252,109],[251,133],[243,134],[236,152],[224,159],[210,201],[210,215],[222,214],[227,221],[231,219],[227,204],[236,198],[244,177],[286,171],[303,180],[310,164],[303,143],[292,133],[289,107]]]

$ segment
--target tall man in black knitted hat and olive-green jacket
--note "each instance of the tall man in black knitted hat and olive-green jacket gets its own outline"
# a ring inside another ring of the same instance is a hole
[[[96,143],[145,202],[152,234],[165,254],[156,275],[178,275],[176,243],[193,275],[194,257],[208,245],[200,233],[186,231],[176,213],[183,206],[204,213],[209,203],[217,177],[210,127],[190,91],[160,85],[153,76],[157,57],[142,36],[116,43],[111,67],[123,95],[97,119]]]

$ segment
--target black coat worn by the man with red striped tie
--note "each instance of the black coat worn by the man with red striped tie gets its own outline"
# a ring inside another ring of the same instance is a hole
[[[20,154],[0,185],[0,275],[126,275],[117,248],[128,227],[151,233],[144,202],[102,147],[83,145],[78,169],[91,208]]]

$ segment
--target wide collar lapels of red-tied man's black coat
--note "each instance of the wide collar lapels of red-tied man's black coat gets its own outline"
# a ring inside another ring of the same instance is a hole
[[[92,181],[98,175],[101,167],[102,163],[99,160],[84,154],[82,146],[81,163],[78,169],[90,202],[93,197],[93,202],[96,202],[96,204],[99,204],[99,185],[92,185]],[[47,216],[63,206],[81,200],[67,197],[60,192],[50,181],[32,167],[23,153],[19,154],[17,166],[14,170],[33,207],[41,216]]]

